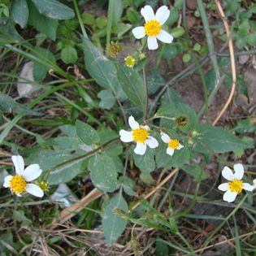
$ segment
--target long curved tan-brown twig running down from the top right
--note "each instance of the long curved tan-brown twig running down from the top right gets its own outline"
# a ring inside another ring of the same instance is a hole
[[[233,48],[233,43],[232,43],[232,36],[231,36],[231,32],[230,32],[230,29],[229,29],[229,26],[228,26],[227,18],[224,15],[224,12],[223,12],[223,9],[222,9],[222,7],[219,3],[219,0],[215,0],[215,4],[218,7],[219,15],[220,15],[220,17],[223,21],[224,28],[226,30],[227,37],[228,37],[228,48],[229,48],[230,59],[231,59],[232,89],[229,93],[229,97],[228,97],[227,102],[223,106],[222,110],[219,112],[219,115],[217,115],[217,117],[213,121],[213,123],[212,123],[213,125],[215,125],[219,121],[219,119],[221,118],[223,113],[226,111],[228,105],[232,101],[232,97],[233,97],[233,95],[235,93],[235,89],[236,89],[236,63],[235,63],[234,48]]]

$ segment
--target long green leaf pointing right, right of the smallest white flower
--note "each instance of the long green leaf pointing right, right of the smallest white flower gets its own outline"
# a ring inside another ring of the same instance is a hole
[[[231,132],[223,128],[213,127],[210,124],[198,124],[199,133],[196,140],[203,145],[208,146],[216,153],[225,153],[233,150],[242,150],[252,148],[249,142],[242,141]]]

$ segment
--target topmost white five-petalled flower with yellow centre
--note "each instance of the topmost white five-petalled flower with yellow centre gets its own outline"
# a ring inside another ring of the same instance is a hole
[[[133,36],[137,39],[148,36],[147,42],[150,50],[158,49],[157,39],[170,44],[173,41],[171,34],[162,29],[163,24],[168,20],[170,11],[167,6],[160,7],[154,15],[152,7],[141,8],[141,15],[145,19],[144,26],[132,29]]]

